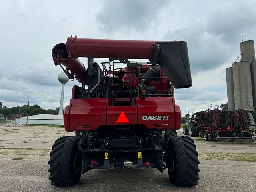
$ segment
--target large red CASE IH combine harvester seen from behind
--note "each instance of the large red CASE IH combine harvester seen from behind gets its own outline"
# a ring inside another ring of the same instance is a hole
[[[166,168],[176,186],[198,184],[198,152],[193,140],[177,136],[181,112],[174,87],[192,86],[187,44],[69,37],[52,56],[76,78],[65,130],[50,153],[49,180],[72,186],[90,169]],[[78,60],[87,57],[87,69]],[[101,67],[94,58],[108,58]],[[130,59],[148,59],[136,62]],[[115,68],[117,64],[124,68]]]

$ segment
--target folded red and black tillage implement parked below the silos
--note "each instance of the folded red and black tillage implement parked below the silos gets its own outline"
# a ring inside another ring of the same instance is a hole
[[[194,125],[199,136],[206,141],[234,140],[256,141],[255,111],[250,110],[214,110],[196,112]]]

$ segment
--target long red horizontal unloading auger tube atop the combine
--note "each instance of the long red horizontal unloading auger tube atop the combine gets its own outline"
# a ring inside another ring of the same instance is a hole
[[[156,41],[84,39],[68,37],[67,52],[73,58],[130,58],[149,59]]]

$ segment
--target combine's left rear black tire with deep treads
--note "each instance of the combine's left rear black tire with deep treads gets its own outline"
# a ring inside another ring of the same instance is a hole
[[[54,186],[73,186],[81,177],[82,153],[78,150],[79,139],[74,136],[58,138],[52,146],[49,180]]]

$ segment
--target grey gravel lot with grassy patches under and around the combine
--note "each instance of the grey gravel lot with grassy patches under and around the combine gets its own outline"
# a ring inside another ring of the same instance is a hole
[[[48,155],[54,141],[64,135],[74,133],[56,127],[0,126],[0,191],[256,191],[256,143],[200,138],[194,138],[201,170],[198,186],[173,186],[168,171],[120,168],[90,170],[76,186],[57,188],[48,180]]]

